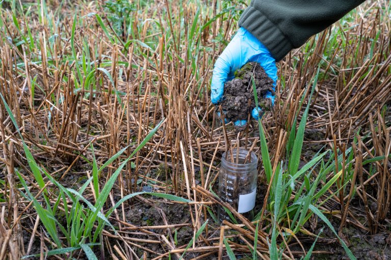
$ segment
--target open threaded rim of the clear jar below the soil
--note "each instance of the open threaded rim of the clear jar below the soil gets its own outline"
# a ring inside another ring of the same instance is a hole
[[[246,156],[248,154],[248,151],[246,149],[239,149],[238,153],[238,163],[236,163],[236,156],[237,156],[237,150],[233,149],[233,155],[234,162],[232,162],[232,157],[230,151],[225,152],[222,154],[221,158],[221,164],[224,167],[231,168],[232,170],[239,170],[239,169],[254,169],[257,168],[258,165],[258,158],[257,155],[254,152],[251,152],[249,161],[246,160]]]

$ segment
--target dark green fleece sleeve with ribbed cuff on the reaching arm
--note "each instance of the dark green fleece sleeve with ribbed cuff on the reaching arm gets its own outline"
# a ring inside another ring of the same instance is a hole
[[[341,19],[365,0],[252,0],[240,17],[244,27],[280,61],[293,48]]]

